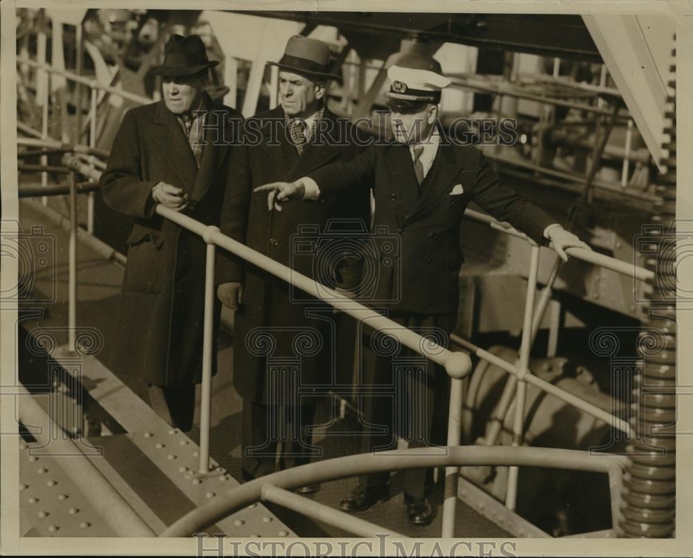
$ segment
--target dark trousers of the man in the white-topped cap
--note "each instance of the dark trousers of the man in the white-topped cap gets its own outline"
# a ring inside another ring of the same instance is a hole
[[[447,347],[457,313],[389,317]],[[360,398],[360,422],[364,426],[361,452],[395,449],[397,435],[406,439],[410,448],[447,445],[450,378],[445,369],[398,343],[394,347],[369,328],[364,333],[360,385],[369,390]],[[371,473],[360,477],[359,485],[376,488],[388,480],[387,471]],[[405,498],[430,496],[432,487],[432,468],[405,470]]]

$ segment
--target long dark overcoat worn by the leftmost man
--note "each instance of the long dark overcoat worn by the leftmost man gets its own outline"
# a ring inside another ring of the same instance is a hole
[[[211,107],[207,96],[205,102]],[[193,385],[202,379],[206,245],[155,213],[151,191],[159,181],[184,189],[191,204],[183,213],[218,225],[231,151],[226,139],[232,134],[226,130],[242,117],[229,107],[211,108],[199,170],[175,114],[159,101],[125,114],[101,177],[106,204],[134,217],[111,361],[119,371],[154,385]],[[240,238],[240,228],[229,225],[227,232]]]

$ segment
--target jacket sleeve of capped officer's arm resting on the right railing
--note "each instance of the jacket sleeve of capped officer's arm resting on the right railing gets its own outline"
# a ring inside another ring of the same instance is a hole
[[[473,200],[484,211],[500,221],[507,221],[539,245],[545,243],[544,229],[556,220],[502,182],[489,159],[482,152],[477,153]]]

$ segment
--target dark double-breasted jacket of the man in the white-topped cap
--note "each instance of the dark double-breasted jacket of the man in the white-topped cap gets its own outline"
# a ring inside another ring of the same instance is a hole
[[[372,182],[374,235],[365,246],[363,266],[375,279],[362,281],[367,289],[362,299],[398,313],[456,311],[464,262],[460,226],[469,202],[540,244],[545,227],[555,222],[504,184],[480,150],[446,141],[421,186],[409,148],[399,143],[370,146],[351,162],[324,166],[309,176],[322,199]]]

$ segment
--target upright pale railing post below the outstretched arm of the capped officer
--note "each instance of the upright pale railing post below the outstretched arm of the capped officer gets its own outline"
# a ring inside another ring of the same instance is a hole
[[[527,295],[525,296],[525,316],[520,345],[520,363],[518,366],[518,385],[515,398],[515,421],[513,424],[513,446],[521,446],[525,428],[525,399],[527,382],[524,376],[529,374],[529,349],[532,348],[532,315],[534,313],[534,295],[536,294],[536,279],[539,270],[539,247],[532,245],[529,258],[529,277],[527,277]],[[514,510],[517,500],[518,467],[510,467],[508,471],[508,487],[505,505]]]

